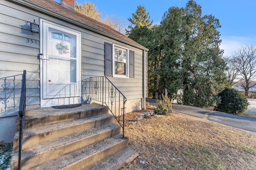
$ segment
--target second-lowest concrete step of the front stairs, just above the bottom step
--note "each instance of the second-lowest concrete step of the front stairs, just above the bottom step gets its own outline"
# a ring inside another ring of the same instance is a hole
[[[31,168],[32,170],[84,170],[128,146],[128,139],[116,135],[86,148],[76,150],[55,160]]]

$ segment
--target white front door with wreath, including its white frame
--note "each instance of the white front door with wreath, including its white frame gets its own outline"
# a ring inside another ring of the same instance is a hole
[[[80,33],[41,24],[41,107],[80,103]]]

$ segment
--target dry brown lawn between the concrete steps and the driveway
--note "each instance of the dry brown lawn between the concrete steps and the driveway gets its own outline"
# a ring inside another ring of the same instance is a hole
[[[140,119],[126,114],[125,135],[139,153],[122,170],[255,170],[256,133],[172,113]]]

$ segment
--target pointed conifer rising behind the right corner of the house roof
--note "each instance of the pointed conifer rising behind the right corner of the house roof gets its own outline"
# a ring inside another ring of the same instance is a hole
[[[144,6],[138,6],[137,11],[132,14],[129,25],[130,31],[126,30],[126,35],[137,43],[148,48],[148,93],[155,98],[156,92],[159,91],[159,73],[160,66],[158,41],[155,31],[158,25],[152,26],[149,13],[146,13]]]

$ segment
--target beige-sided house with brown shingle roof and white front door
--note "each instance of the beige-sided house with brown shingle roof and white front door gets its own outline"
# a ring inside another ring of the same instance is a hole
[[[0,141],[14,136],[23,70],[26,109],[82,103],[81,81],[107,76],[129,112],[145,108],[147,52],[74,12],[74,0],[0,0]]]

